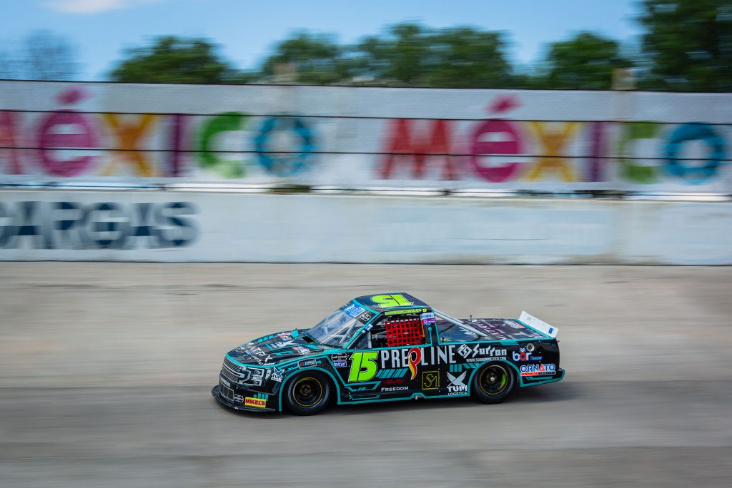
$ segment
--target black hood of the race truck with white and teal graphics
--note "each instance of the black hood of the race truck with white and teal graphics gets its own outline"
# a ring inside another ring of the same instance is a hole
[[[265,335],[232,349],[228,355],[244,365],[275,365],[324,351],[320,346],[304,340],[303,332],[305,330],[295,329]]]

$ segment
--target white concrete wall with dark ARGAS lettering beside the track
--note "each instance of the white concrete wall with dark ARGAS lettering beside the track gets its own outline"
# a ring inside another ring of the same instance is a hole
[[[0,191],[1,260],[732,264],[732,205]]]

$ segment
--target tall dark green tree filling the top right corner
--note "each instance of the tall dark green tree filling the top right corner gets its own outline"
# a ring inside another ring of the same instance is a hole
[[[643,0],[643,88],[732,91],[732,2]]]

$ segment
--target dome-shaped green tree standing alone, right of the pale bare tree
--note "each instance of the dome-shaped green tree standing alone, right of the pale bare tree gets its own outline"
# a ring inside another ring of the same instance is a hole
[[[127,50],[111,72],[127,83],[242,83],[246,79],[206,39],[158,37],[152,45]]]

